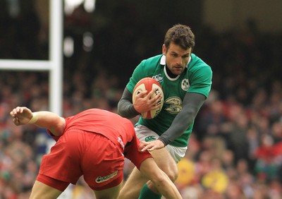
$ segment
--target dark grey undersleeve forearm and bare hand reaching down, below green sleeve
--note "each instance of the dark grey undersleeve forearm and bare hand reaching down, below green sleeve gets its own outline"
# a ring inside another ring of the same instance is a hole
[[[176,116],[171,126],[157,139],[152,142],[140,143],[140,150],[157,150],[165,147],[178,138],[195,120],[198,111],[207,99],[206,96],[197,92],[187,92],[183,100],[182,111]]]

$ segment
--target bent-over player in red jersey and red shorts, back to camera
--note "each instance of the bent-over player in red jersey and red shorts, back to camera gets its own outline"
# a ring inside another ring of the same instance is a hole
[[[56,144],[44,155],[30,198],[57,198],[83,175],[96,198],[117,198],[123,181],[124,157],[130,159],[166,198],[181,198],[176,186],[157,167],[149,152],[140,152],[133,124],[102,109],[63,118],[27,107],[11,111],[16,126],[33,123],[47,128]],[[122,198],[122,196],[121,196]]]

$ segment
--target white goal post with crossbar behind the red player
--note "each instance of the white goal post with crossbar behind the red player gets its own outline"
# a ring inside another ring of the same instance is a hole
[[[49,1],[49,60],[0,59],[0,70],[48,71],[49,109],[62,114],[63,86],[63,1]]]

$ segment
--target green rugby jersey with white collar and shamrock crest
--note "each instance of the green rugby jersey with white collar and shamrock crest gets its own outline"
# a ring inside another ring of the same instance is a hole
[[[176,78],[170,78],[166,73],[166,56],[163,54],[143,60],[133,72],[126,87],[132,93],[136,83],[145,77],[157,80],[164,91],[164,106],[154,119],[140,117],[137,123],[147,126],[152,131],[161,135],[171,126],[173,119],[181,111],[186,92],[197,92],[206,97],[212,86],[212,69],[195,54],[191,54],[191,60],[185,71]],[[179,138],[170,145],[186,147],[192,132],[194,122]]]

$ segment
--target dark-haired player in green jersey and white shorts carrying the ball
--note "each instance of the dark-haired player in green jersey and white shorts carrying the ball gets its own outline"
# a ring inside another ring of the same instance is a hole
[[[118,114],[128,119],[156,109],[158,97],[154,92],[141,92],[132,101],[133,88],[145,77],[159,81],[164,90],[164,106],[154,119],[140,117],[135,124],[142,150],[149,150],[159,167],[171,181],[178,176],[177,163],[188,149],[188,140],[200,107],[212,86],[212,69],[192,54],[195,36],[186,25],[174,25],[164,37],[162,54],[141,61],[118,102]],[[141,193],[140,193],[141,191]],[[136,168],[123,186],[120,198],[161,198],[152,183]]]

